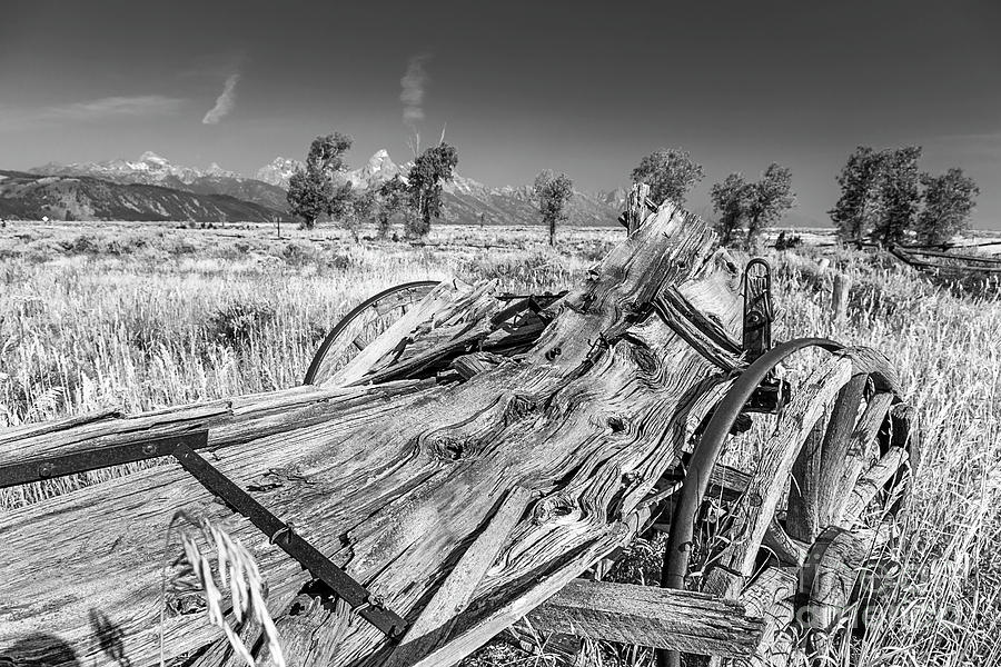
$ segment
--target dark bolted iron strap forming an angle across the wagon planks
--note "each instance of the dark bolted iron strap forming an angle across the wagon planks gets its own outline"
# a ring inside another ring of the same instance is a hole
[[[258,530],[268,536],[271,544],[277,545],[304,569],[329,586],[361,618],[388,637],[403,635],[407,627],[406,620],[387,609],[379,598],[297,535],[289,524],[271,514],[196,451],[207,447],[208,431],[200,430],[184,436],[129,442],[65,456],[41,457],[0,466],[0,488],[174,456],[201,486],[221,498],[234,511],[248,518]]]

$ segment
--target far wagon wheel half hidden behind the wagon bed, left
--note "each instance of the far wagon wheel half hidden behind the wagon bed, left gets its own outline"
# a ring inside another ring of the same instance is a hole
[[[309,364],[304,385],[321,385],[346,366],[412,306],[438,285],[437,280],[404,282],[361,301],[330,329]]]

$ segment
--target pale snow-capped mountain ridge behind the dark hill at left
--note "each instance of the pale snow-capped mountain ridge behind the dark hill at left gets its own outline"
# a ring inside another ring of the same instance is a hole
[[[181,167],[152,151],[138,160],[108,160],[60,165],[49,162],[28,170],[44,176],[90,176],[116,183],[162,186],[196,195],[229,195],[275,211],[287,210],[285,188],[227,171],[215,162],[208,169]]]

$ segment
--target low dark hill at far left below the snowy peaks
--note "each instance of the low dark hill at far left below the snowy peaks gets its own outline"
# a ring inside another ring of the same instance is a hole
[[[0,171],[0,216],[38,220],[185,220],[269,222],[276,212],[228,195],[196,195],[161,186],[89,176]]]

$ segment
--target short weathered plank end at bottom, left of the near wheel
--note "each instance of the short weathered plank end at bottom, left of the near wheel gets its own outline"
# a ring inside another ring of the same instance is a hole
[[[545,633],[724,657],[751,656],[764,627],[734,600],[583,579],[571,581],[527,619]]]

